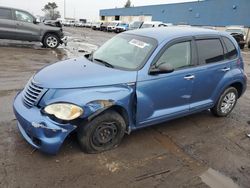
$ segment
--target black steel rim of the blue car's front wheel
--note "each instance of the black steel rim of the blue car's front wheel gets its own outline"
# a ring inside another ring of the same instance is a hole
[[[112,145],[113,140],[118,134],[116,122],[103,122],[98,125],[94,131],[92,140],[96,147],[105,147]]]

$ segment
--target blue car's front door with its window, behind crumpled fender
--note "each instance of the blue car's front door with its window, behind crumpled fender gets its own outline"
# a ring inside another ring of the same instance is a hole
[[[167,63],[174,72],[138,76],[137,126],[160,123],[189,112],[193,88],[193,41],[180,40],[167,44],[153,63]]]

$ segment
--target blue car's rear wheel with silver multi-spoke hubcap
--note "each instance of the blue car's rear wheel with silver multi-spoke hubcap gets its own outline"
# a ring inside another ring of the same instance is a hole
[[[217,117],[228,116],[234,109],[238,99],[238,91],[234,87],[227,88],[220,96],[218,102],[211,109]]]

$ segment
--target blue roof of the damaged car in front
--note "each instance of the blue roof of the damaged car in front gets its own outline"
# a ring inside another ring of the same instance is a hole
[[[144,37],[150,37],[156,39],[158,43],[161,43],[167,39],[177,38],[177,37],[188,37],[188,36],[198,36],[198,35],[219,35],[219,31],[198,27],[159,27],[159,28],[146,28],[146,29],[136,29],[127,31],[127,34],[134,34]]]

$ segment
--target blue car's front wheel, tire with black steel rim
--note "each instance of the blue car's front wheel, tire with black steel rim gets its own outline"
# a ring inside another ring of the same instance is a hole
[[[125,129],[123,117],[115,111],[107,111],[79,127],[77,136],[84,152],[100,153],[117,147]]]

